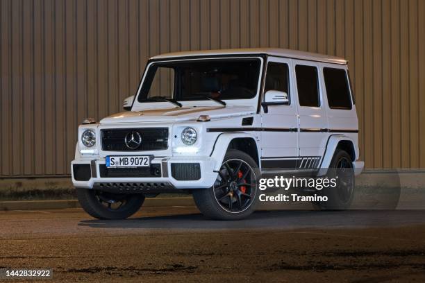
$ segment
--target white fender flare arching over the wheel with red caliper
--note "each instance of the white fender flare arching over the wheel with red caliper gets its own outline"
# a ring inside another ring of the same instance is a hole
[[[224,155],[226,155],[228,145],[233,139],[237,138],[251,138],[256,141],[257,149],[260,148],[258,146],[258,138],[255,135],[251,135],[246,132],[223,132],[217,137],[213,151],[210,155],[210,157],[213,157],[213,159],[215,160],[215,171],[219,171],[220,167],[222,166]],[[260,156],[260,153],[258,153],[258,156]]]

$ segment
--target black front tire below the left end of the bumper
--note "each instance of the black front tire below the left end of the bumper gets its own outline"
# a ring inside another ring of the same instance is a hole
[[[77,189],[77,198],[84,211],[98,219],[125,219],[142,207],[141,194],[113,194],[96,189]]]

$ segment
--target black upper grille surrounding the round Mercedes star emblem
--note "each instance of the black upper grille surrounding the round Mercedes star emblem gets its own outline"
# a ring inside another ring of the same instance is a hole
[[[140,146],[128,148],[126,136],[138,132]],[[101,130],[103,151],[160,151],[168,148],[168,128],[126,128]]]

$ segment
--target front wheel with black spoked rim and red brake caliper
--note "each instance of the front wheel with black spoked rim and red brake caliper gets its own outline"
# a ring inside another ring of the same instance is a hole
[[[229,150],[213,187],[194,190],[194,202],[209,218],[245,218],[255,211],[258,204],[258,176],[258,165],[251,156],[242,151]]]

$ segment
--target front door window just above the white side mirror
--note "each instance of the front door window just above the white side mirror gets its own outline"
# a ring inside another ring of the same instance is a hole
[[[288,94],[288,98],[290,99],[288,76],[289,71],[287,64],[269,62],[267,64],[264,93],[269,90],[278,90],[279,92]]]

